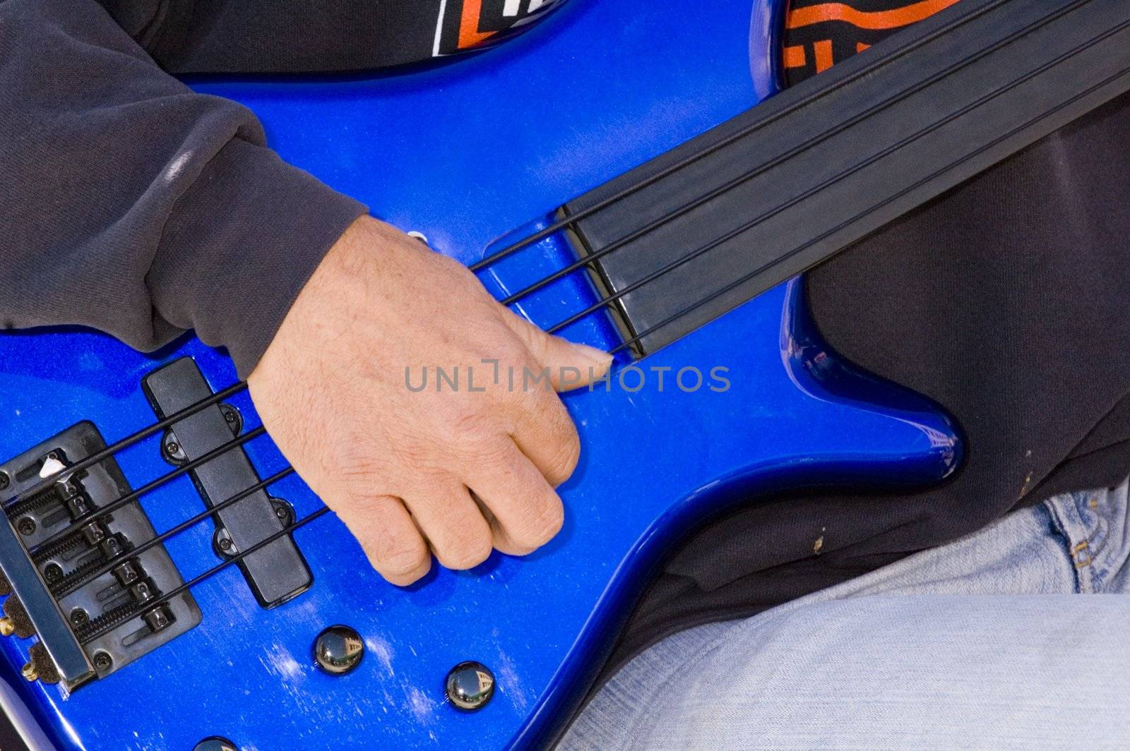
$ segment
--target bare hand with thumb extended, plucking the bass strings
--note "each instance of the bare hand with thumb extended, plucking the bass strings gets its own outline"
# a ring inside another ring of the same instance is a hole
[[[513,367],[519,385],[483,361]],[[325,255],[247,383],[268,433],[385,579],[525,554],[560,529],[554,487],[580,456],[557,394],[523,367],[588,384],[611,358],[550,337],[495,302],[458,262],[363,217]],[[478,366],[475,391],[409,390],[406,368]],[[575,372],[573,372],[575,373]],[[480,381],[483,383],[480,383]],[[483,391],[479,391],[479,388]],[[473,496],[471,495],[473,491]]]

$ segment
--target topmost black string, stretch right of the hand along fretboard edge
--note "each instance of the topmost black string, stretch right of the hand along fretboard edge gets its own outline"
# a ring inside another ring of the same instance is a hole
[[[1089,1],[1090,0],[1077,0],[1071,7],[1074,8],[1076,6],[1079,6],[1079,5],[1089,2]],[[504,257],[506,257],[506,256],[508,256],[508,255],[511,255],[511,254],[513,254],[513,253],[522,250],[523,247],[527,247],[529,245],[532,245],[533,243],[540,242],[540,241],[545,239],[546,237],[553,235],[556,232],[559,232],[562,229],[566,229],[570,226],[572,226],[573,222],[580,221],[581,219],[590,217],[590,216],[592,216],[593,213],[596,213],[598,211],[607,209],[608,207],[612,206],[614,203],[616,203],[618,201],[621,201],[621,200],[628,198],[629,195],[635,194],[636,192],[638,192],[638,191],[647,187],[649,185],[652,185],[652,184],[659,182],[660,180],[663,180],[666,177],[671,176],[672,174],[675,174],[679,169],[683,169],[684,167],[687,167],[687,166],[689,166],[689,165],[698,161],[699,159],[703,159],[703,158],[705,158],[705,157],[707,157],[707,156],[710,156],[712,154],[715,154],[716,151],[725,148],[727,146],[730,146],[730,145],[734,143],[736,141],[745,138],[746,136],[749,136],[755,130],[757,130],[759,128],[763,128],[765,125],[768,125],[770,123],[773,123],[776,120],[780,120],[781,117],[783,117],[783,116],[785,116],[785,115],[788,115],[788,114],[790,114],[790,113],[792,113],[792,112],[794,112],[794,111],[797,111],[797,110],[799,110],[799,108],[801,108],[803,106],[807,106],[810,102],[812,102],[812,101],[815,101],[815,99],[817,99],[817,98],[819,98],[822,96],[825,96],[829,91],[835,90],[837,88],[842,88],[843,86],[846,86],[847,84],[850,84],[850,82],[852,82],[852,81],[854,81],[854,80],[857,80],[859,78],[863,78],[863,77],[868,76],[879,64],[885,64],[886,62],[888,62],[890,60],[904,56],[904,55],[913,52],[914,50],[921,47],[922,45],[924,45],[924,44],[927,44],[929,42],[932,42],[933,40],[938,38],[942,34],[948,34],[954,28],[956,28],[956,27],[958,27],[958,26],[960,26],[963,24],[967,24],[967,23],[974,20],[975,18],[977,18],[977,17],[980,17],[980,16],[986,14],[986,12],[990,12],[991,10],[993,10],[993,9],[996,9],[996,8],[1005,5],[1005,2],[1007,2],[1007,0],[996,0],[996,2],[985,5],[985,6],[981,7],[981,8],[977,8],[974,11],[967,12],[965,16],[962,16],[960,18],[956,19],[954,24],[941,26],[941,27],[935,29],[932,33],[930,33],[928,35],[923,35],[922,37],[918,37],[915,40],[911,40],[906,44],[904,44],[904,45],[902,45],[902,46],[896,47],[895,50],[893,50],[890,53],[888,53],[881,60],[872,61],[870,64],[862,66],[859,70],[854,71],[853,73],[851,73],[849,76],[845,76],[843,79],[836,81],[836,84],[833,87],[816,89],[812,93],[808,94],[807,96],[799,98],[797,102],[793,102],[789,106],[782,107],[777,112],[771,113],[771,114],[768,114],[767,116],[765,116],[763,119],[755,120],[754,122],[750,122],[747,125],[744,125],[742,128],[738,129],[737,131],[734,131],[730,136],[727,136],[723,139],[721,139],[719,142],[713,143],[713,145],[711,145],[711,146],[709,146],[709,147],[706,147],[706,148],[704,148],[704,149],[702,149],[699,151],[696,151],[694,154],[688,154],[687,156],[685,156],[685,157],[678,159],[677,161],[673,161],[672,164],[670,164],[670,165],[668,165],[668,166],[666,166],[666,167],[657,171],[655,173],[649,175],[647,177],[644,177],[643,180],[641,180],[641,181],[638,181],[638,182],[636,182],[636,183],[634,183],[632,185],[623,187],[623,189],[618,190],[617,192],[615,192],[614,194],[608,195],[608,197],[606,197],[603,199],[600,199],[596,203],[593,203],[593,204],[591,204],[589,207],[585,207],[584,209],[581,209],[576,213],[574,213],[574,215],[572,215],[572,216],[570,216],[570,217],[567,217],[565,219],[559,219],[557,221],[554,221],[550,225],[544,227],[542,229],[539,229],[538,232],[536,232],[536,233],[533,233],[533,234],[531,234],[531,235],[529,235],[527,237],[523,237],[522,239],[515,241],[514,243],[512,243],[512,244],[510,244],[510,245],[507,245],[507,246],[505,246],[503,248],[499,248],[498,251],[495,251],[494,253],[485,256],[484,259],[477,261],[476,263],[472,263],[468,268],[471,271],[481,271],[483,269],[486,269],[487,267],[489,267],[489,265],[492,265],[492,264],[501,261],[502,259],[504,259]]]

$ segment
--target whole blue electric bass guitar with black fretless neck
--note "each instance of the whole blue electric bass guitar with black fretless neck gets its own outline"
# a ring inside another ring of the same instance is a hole
[[[445,64],[197,82],[616,366],[564,398],[583,456],[560,534],[398,588],[223,352],[3,333],[5,710],[43,748],[537,746],[695,524],[945,479],[955,426],[838,359],[796,274],[1124,88],[1123,27],[1080,16],[1118,2],[1009,5],[965,0],[775,96],[777,0],[574,0]]]

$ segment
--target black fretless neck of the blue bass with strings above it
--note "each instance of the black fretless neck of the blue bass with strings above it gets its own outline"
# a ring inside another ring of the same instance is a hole
[[[563,213],[642,356],[1128,88],[1124,0],[963,0]]]

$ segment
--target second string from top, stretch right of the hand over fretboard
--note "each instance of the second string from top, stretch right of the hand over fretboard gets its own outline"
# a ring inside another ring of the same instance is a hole
[[[1078,0],[1076,2],[1076,5],[1080,5],[1083,2],[1089,2],[1089,1],[1090,0]],[[601,247],[600,250],[594,251],[592,253],[589,253],[589,254],[584,255],[583,257],[580,257],[576,261],[573,261],[573,262],[566,264],[565,267],[563,267],[563,268],[554,271],[553,273],[550,273],[550,274],[548,274],[548,276],[546,276],[546,277],[544,277],[541,279],[538,279],[537,281],[531,282],[527,287],[523,287],[522,289],[519,289],[518,291],[515,291],[515,292],[508,295],[507,297],[501,299],[499,303],[502,303],[503,305],[512,305],[512,304],[514,304],[514,303],[516,303],[516,302],[519,302],[519,300],[528,297],[529,295],[538,291],[539,289],[541,289],[541,288],[544,288],[544,287],[546,287],[546,286],[548,286],[548,285],[557,281],[558,279],[562,279],[563,277],[567,276],[568,273],[571,273],[573,271],[576,271],[577,269],[581,269],[583,267],[586,267],[586,265],[589,265],[589,264],[598,261],[599,259],[601,259],[601,257],[603,257],[606,255],[609,255],[610,253],[614,253],[614,252],[618,251],[619,248],[621,248],[621,247],[624,247],[624,246],[633,243],[634,241],[636,241],[636,239],[643,237],[644,235],[646,235],[646,234],[649,234],[649,233],[658,229],[659,227],[662,227],[663,225],[666,225],[666,224],[668,224],[668,222],[670,222],[670,221],[672,221],[672,220],[675,220],[675,219],[677,219],[677,218],[686,215],[687,212],[693,211],[694,209],[697,209],[701,206],[704,206],[705,203],[712,201],[713,199],[719,198],[720,195],[723,195],[724,193],[728,193],[729,191],[733,190],[734,187],[738,187],[739,185],[742,185],[742,184],[749,182],[750,180],[753,180],[753,178],[755,178],[755,177],[757,177],[757,176],[766,173],[767,171],[772,169],[773,167],[776,167],[776,166],[783,164],[784,161],[786,161],[786,160],[791,159],[792,157],[797,156],[798,154],[800,154],[800,152],[802,152],[802,151],[811,148],[812,146],[816,146],[818,143],[823,143],[827,139],[836,136],[837,133],[843,132],[847,128],[851,128],[852,125],[854,125],[854,124],[857,124],[859,122],[862,122],[863,120],[866,120],[867,117],[870,117],[875,113],[880,112],[884,108],[887,108],[887,107],[889,107],[889,106],[892,106],[894,104],[897,104],[898,102],[905,99],[906,97],[912,96],[913,94],[922,90],[923,88],[925,88],[925,87],[928,87],[928,86],[930,86],[932,84],[936,84],[937,81],[941,80],[946,76],[949,76],[949,75],[954,73],[955,71],[958,71],[958,70],[960,70],[963,68],[966,68],[966,67],[973,64],[974,62],[976,62],[981,58],[983,58],[983,56],[985,56],[988,54],[991,54],[992,52],[999,50],[1000,47],[1002,47],[1002,46],[1005,46],[1007,44],[1010,44],[1011,42],[1016,41],[1020,36],[1024,36],[1024,35],[1031,33],[1034,28],[1040,28],[1041,26],[1044,26],[1044,25],[1051,23],[1052,20],[1054,20],[1055,18],[1058,18],[1061,14],[1068,12],[1069,10],[1070,10],[1070,8],[1064,8],[1064,9],[1062,9],[1061,11],[1059,11],[1057,14],[1053,14],[1051,16],[1048,16],[1048,17],[1041,19],[1041,21],[1038,24],[1034,24],[1032,27],[1025,27],[1024,29],[1015,32],[1014,34],[1011,34],[1011,35],[1009,35],[1007,37],[998,40],[997,42],[994,42],[993,44],[989,45],[988,47],[984,47],[983,50],[979,50],[973,55],[971,55],[971,56],[968,56],[968,58],[966,58],[966,59],[964,59],[964,60],[962,60],[959,62],[953,63],[949,67],[947,67],[947,68],[945,68],[945,69],[942,69],[942,70],[933,73],[929,78],[925,78],[925,79],[919,81],[918,84],[915,84],[911,88],[905,89],[903,91],[899,91],[897,94],[893,94],[892,96],[887,97],[886,99],[884,99],[884,101],[875,104],[871,107],[868,107],[867,110],[864,110],[864,111],[860,112],[859,114],[850,117],[849,120],[845,120],[844,122],[835,125],[834,128],[829,128],[828,130],[825,130],[824,132],[817,134],[816,137],[814,137],[811,139],[807,139],[803,143],[799,143],[797,146],[794,146],[793,148],[791,148],[791,149],[789,149],[789,150],[786,150],[786,151],[784,151],[784,152],[782,152],[782,154],[773,157],[768,161],[765,161],[765,163],[763,163],[763,164],[754,167],[753,169],[744,172],[744,173],[737,175],[736,177],[731,178],[730,181],[723,183],[722,185],[707,191],[703,195],[696,197],[696,198],[692,199],[690,201],[687,201],[686,203],[680,204],[679,207],[677,207],[676,209],[669,211],[668,213],[662,215],[660,217],[657,217],[655,219],[652,219],[651,221],[649,221],[647,224],[643,225],[642,227],[640,227],[640,228],[631,232],[629,234],[627,234],[627,235],[625,235],[623,237],[619,237],[619,238],[612,241],[611,243],[609,243],[608,245]],[[703,155],[703,156],[705,156],[705,155]],[[702,158],[702,157],[698,157],[698,158]],[[695,160],[697,160],[697,159],[695,159]],[[632,191],[632,193],[635,193],[635,192],[637,192],[640,190],[643,190],[643,187],[646,187],[646,185],[640,185],[640,186],[635,187]],[[621,197],[619,200],[624,200],[625,198],[627,198],[627,195]],[[608,207],[602,207],[602,208],[608,208]],[[575,230],[576,229],[575,222],[577,222],[582,218],[584,218],[582,216],[582,213],[584,213],[584,216],[590,216],[591,215],[591,212],[579,212],[579,213],[576,213],[574,216],[571,216],[567,220],[565,220],[562,224],[562,228],[564,228],[564,227],[572,227]],[[546,230],[541,230],[541,232],[547,232],[548,229],[550,229],[550,228],[546,228]],[[530,239],[529,242],[536,242],[536,241]],[[508,248],[504,248],[504,250],[508,250]],[[475,267],[471,267],[471,268],[475,269]]]

